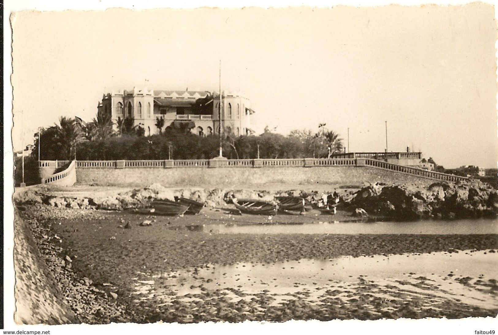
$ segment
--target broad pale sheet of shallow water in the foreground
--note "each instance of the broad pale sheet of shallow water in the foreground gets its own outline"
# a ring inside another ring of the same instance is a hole
[[[497,263],[498,253],[467,250],[271,264],[209,264],[170,273],[140,273],[154,282],[143,285],[137,281],[135,294],[142,300],[153,298],[167,304],[218,290],[234,302],[258,294],[271,295],[273,305],[293,299],[316,304],[330,296],[349,300],[370,295],[386,300],[422,299],[427,306],[449,300],[496,309]]]

